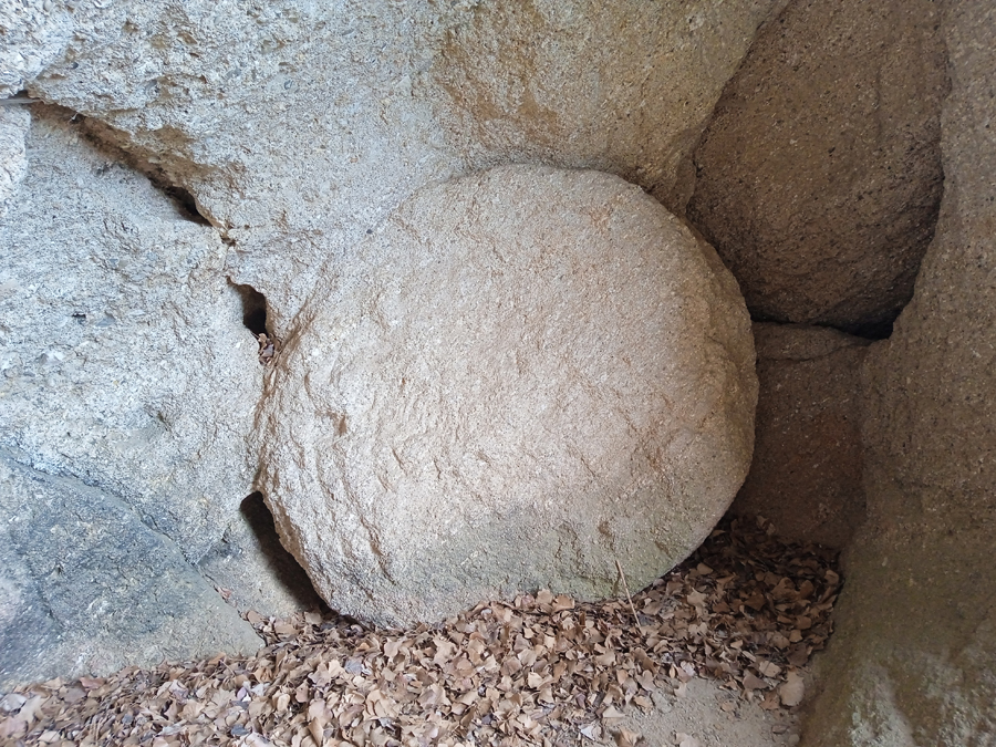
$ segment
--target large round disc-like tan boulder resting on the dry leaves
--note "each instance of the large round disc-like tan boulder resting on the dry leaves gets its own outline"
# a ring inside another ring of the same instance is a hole
[[[757,380],[710,247],[633,185],[501,167],[330,267],[268,380],[261,489],[333,609],[639,589],[740,487]]]

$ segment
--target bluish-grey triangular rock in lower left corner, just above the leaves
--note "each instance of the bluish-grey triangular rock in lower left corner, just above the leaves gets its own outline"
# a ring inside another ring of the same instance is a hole
[[[117,498],[0,453],[0,691],[261,645]]]

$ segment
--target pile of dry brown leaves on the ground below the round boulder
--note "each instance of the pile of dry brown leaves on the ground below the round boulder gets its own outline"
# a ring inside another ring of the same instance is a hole
[[[558,745],[613,734],[626,706],[712,676],[762,707],[798,705],[798,670],[830,634],[833,554],[724,525],[685,563],[620,602],[540,592],[445,624],[373,630],[319,613],[250,613],[268,645],[0,701],[3,744]],[[639,626],[633,614],[639,618]]]

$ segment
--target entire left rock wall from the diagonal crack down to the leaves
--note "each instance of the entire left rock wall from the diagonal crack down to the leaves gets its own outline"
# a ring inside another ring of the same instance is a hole
[[[226,247],[72,121],[34,106],[0,221],[0,687],[259,644],[191,564],[252,484]]]

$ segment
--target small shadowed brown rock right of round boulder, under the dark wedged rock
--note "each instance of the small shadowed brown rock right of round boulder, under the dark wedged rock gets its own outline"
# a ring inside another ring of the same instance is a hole
[[[754,461],[730,510],[782,537],[842,548],[864,519],[861,362],[868,340],[820,326],[754,325]]]

